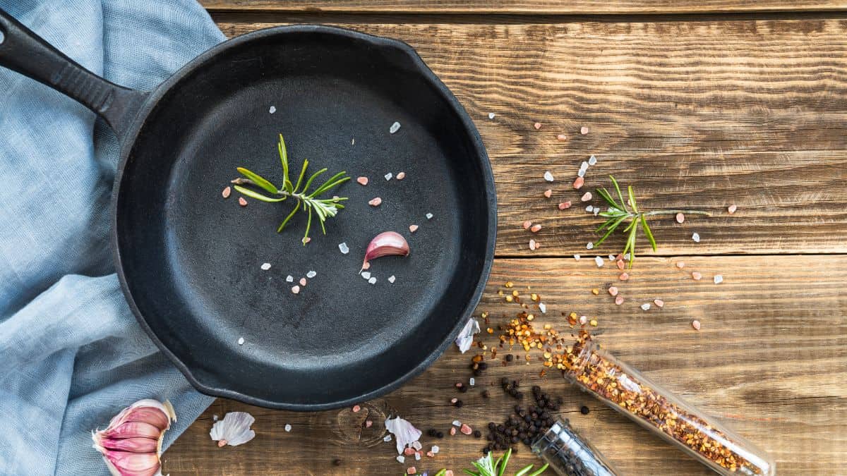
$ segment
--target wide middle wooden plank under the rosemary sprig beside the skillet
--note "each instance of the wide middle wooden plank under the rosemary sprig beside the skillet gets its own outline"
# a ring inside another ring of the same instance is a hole
[[[276,25],[253,19],[218,16],[229,36]],[[843,20],[384,20],[339,24],[409,42],[468,109],[495,169],[500,256],[585,254],[601,220],[579,198],[609,186],[608,174],[633,184],[642,208],[716,214],[654,221],[661,256],[847,252]],[[599,163],[574,191],[591,154]],[[545,170],[556,183],[545,182]],[[542,196],[548,187],[551,199]],[[576,205],[559,211],[563,200]],[[730,217],[733,203],[739,212]],[[523,230],[527,219],[543,224],[538,235]],[[529,251],[530,238],[539,251]],[[599,251],[622,247],[616,236]]]

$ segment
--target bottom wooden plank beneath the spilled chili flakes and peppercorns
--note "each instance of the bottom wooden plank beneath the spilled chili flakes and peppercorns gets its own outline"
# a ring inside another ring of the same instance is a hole
[[[645,258],[623,284],[627,302],[617,307],[605,291],[615,283],[608,267],[565,258],[499,259],[478,313],[490,312],[490,325],[507,322],[515,304],[497,296],[512,280],[527,285],[547,304],[534,322],[564,328],[562,312],[599,319],[603,346],[651,379],[771,451],[780,474],[836,474],[847,468],[847,256],[785,256],[778,263],[761,257]],[[776,264],[776,265],[775,265]],[[699,270],[706,280],[688,274]],[[721,285],[711,276],[721,273]],[[649,312],[641,302],[662,298],[665,306]],[[697,332],[691,319],[703,327]],[[484,343],[495,335],[484,334]],[[503,357],[501,351],[498,357]],[[555,373],[539,377],[540,363],[501,367],[495,361],[477,378],[477,387],[458,393],[453,384],[468,381],[471,353],[449,349],[432,368],[389,396],[363,407],[372,412],[370,429],[361,429],[348,409],[318,413],[278,412],[218,400],[164,454],[163,473],[181,474],[400,474],[407,465],[394,461],[393,443],[384,443],[382,418],[396,412],[421,429],[448,429],[453,419],[482,428],[506,418],[515,403],[499,387],[502,376],[523,385],[541,385],[565,400],[562,416],[590,439],[626,474],[710,474],[698,463],[651,436],[634,423],[567,385]],[[523,352],[518,353],[523,362]],[[352,376],[355,378],[355,376]],[[291,385],[296,385],[292,382]],[[490,388],[484,400],[480,390]],[[448,400],[458,396],[461,409]],[[581,415],[579,407],[590,407]],[[257,437],[238,447],[217,448],[208,438],[212,415],[245,410],[257,423]],[[351,423],[353,422],[353,423]],[[283,426],[291,423],[291,433]],[[361,433],[359,433],[361,431]],[[416,464],[419,470],[467,466],[479,457],[482,441],[457,435],[435,440],[441,452]],[[340,467],[332,460],[341,459]],[[513,468],[533,462],[525,448]]]

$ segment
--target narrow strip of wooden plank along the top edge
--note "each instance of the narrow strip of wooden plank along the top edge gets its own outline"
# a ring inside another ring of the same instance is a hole
[[[705,14],[843,11],[838,0],[201,0],[213,12],[259,10],[284,13],[367,14]]]

